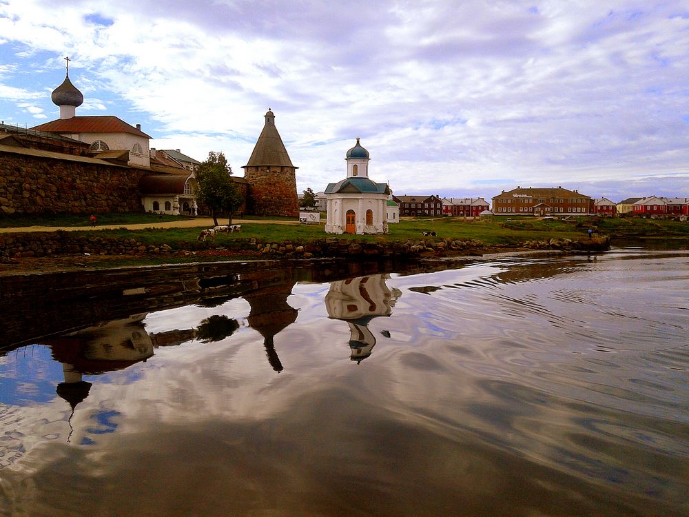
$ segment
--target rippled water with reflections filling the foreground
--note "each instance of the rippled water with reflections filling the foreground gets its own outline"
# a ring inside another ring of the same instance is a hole
[[[4,284],[0,515],[689,514],[689,252],[348,267]]]

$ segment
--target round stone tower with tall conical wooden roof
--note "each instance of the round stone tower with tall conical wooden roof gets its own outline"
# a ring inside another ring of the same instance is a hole
[[[295,171],[285,144],[275,127],[270,108],[265,126],[258,136],[254,152],[243,166],[244,179],[249,182],[247,213],[262,216],[299,216],[299,198]]]

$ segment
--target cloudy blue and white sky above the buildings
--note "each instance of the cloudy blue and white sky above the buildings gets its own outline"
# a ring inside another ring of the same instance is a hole
[[[69,56],[77,115],[239,176],[271,108],[300,192],[360,136],[395,194],[689,196],[686,0],[0,0],[0,55],[5,123],[59,118]]]

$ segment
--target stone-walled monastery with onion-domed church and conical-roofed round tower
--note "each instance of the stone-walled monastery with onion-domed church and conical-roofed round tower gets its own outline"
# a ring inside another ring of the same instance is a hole
[[[23,130],[0,124],[0,210],[4,214],[156,212],[196,215],[194,172],[180,150],[156,150],[152,137],[116,116],[77,116],[83,94],[69,68],[53,92],[60,118]],[[244,203],[236,215],[299,214],[296,167],[271,110],[254,152],[232,176]]]

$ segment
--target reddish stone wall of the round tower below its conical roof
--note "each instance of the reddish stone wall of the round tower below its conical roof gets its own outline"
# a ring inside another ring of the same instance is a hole
[[[247,166],[249,182],[247,213],[260,216],[299,216],[299,197],[294,167]]]

